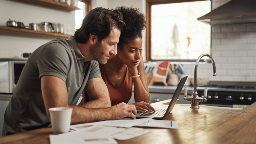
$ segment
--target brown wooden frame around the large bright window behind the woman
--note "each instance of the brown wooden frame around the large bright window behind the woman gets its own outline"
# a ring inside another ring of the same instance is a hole
[[[172,3],[183,3],[183,2],[196,2],[205,0],[146,0],[146,18],[148,26],[146,29],[146,60],[147,61],[176,61],[176,62],[195,62],[196,59],[161,59],[155,60],[151,58],[151,6],[160,4],[172,4]],[[212,7],[212,6],[211,6]],[[212,34],[212,31],[211,31]],[[210,34],[210,39],[211,39]],[[211,40],[210,40],[211,43]],[[211,44],[210,44],[210,47]],[[210,50],[211,53],[211,50]]]

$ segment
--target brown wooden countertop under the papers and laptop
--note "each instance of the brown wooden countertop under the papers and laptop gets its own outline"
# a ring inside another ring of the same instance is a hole
[[[164,108],[166,101],[152,104]],[[170,101],[170,100],[169,100]],[[241,110],[190,108],[175,106],[164,120],[177,120],[179,129],[155,129],[129,140],[117,140],[119,144],[255,144],[256,102]],[[0,144],[49,144],[51,128],[42,128],[5,136]]]

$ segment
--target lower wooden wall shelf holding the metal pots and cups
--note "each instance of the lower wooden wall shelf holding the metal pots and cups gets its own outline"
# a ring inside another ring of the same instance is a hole
[[[55,38],[66,38],[68,39],[70,35],[59,34],[59,33],[50,33],[42,31],[34,31],[32,29],[16,28],[16,27],[7,27],[0,26],[0,32],[23,34],[29,36],[41,36],[41,37],[55,37]]]

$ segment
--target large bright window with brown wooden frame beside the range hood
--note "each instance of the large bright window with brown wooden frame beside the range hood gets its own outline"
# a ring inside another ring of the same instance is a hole
[[[147,60],[192,61],[210,54],[211,26],[197,18],[211,11],[211,1],[191,1],[147,1]]]

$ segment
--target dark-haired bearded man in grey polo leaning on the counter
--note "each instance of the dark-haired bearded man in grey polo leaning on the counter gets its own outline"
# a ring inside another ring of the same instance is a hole
[[[53,107],[73,108],[71,124],[135,118],[134,105],[111,107],[98,66],[98,62],[106,64],[116,55],[124,28],[118,10],[96,8],[85,16],[74,37],[57,38],[37,48],[28,58],[6,108],[3,136],[47,127],[48,109]],[[75,106],[84,88],[92,101]]]

